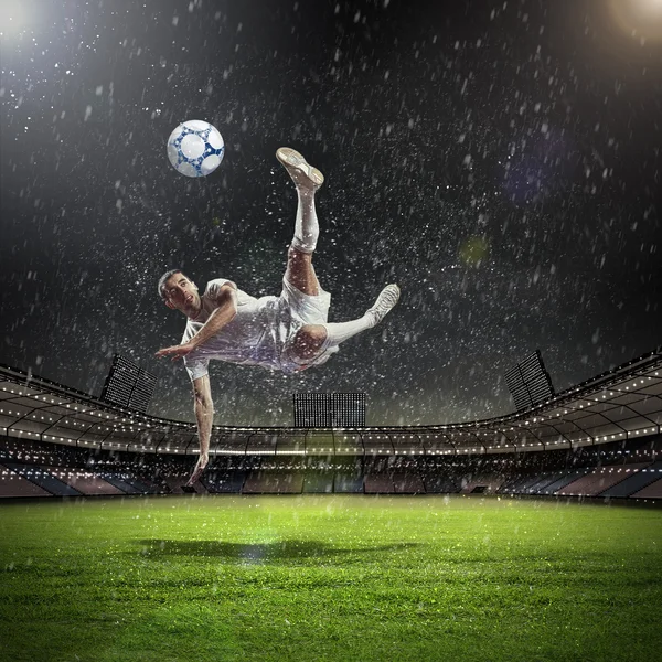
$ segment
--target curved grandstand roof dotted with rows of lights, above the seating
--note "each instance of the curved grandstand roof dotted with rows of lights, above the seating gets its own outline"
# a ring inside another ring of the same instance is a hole
[[[214,426],[212,455],[463,455],[575,448],[660,433],[662,348],[540,405],[427,426],[302,429]],[[196,426],[104,403],[0,365],[0,435],[84,448],[193,455]]]

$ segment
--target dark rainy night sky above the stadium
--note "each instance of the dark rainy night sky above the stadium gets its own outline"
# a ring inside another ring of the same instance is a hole
[[[213,363],[217,424],[288,425],[296,391],[485,418],[536,348],[557,389],[654,349],[662,10],[618,4],[2,0],[0,363],[98,395],[118,352],[158,375],[150,413],[192,420],[157,280],[280,291],[281,145],[327,177],[330,321],[403,299],[318,370]],[[226,142],[200,181],[166,156],[186,119]]]

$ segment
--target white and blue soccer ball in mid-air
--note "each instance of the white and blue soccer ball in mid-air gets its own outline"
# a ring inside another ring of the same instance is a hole
[[[172,167],[186,177],[206,177],[214,172],[224,152],[223,137],[202,119],[181,124],[168,138],[168,158]]]

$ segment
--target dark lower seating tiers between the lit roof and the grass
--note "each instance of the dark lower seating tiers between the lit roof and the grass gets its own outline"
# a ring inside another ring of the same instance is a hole
[[[661,437],[501,456],[212,456],[199,494],[508,494],[662,499]],[[194,456],[0,437],[0,496],[183,494]]]

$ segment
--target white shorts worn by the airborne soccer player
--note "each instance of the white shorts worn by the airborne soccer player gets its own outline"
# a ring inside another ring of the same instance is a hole
[[[331,306],[331,295],[320,287],[319,295],[305,295],[298,290],[287,278],[282,279],[282,292],[280,299],[287,306],[290,312],[290,325],[282,353],[280,355],[280,369],[282,372],[291,374],[327,363],[335,352],[338,345],[322,350],[313,359],[301,360],[292,351],[295,337],[299,329],[306,324],[325,324],[329,319],[329,307]]]

